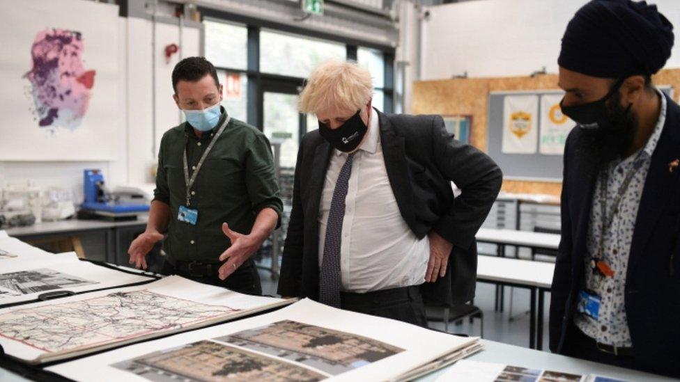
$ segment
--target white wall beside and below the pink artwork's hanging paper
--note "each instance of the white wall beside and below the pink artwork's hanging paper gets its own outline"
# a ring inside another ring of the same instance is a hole
[[[96,6],[112,6],[97,3]],[[172,100],[171,71],[180,57],[200,52],[200,29],[185,26],[180,39],[178,24],[156,24],[155,67],[152,65],[153,23],[148,19],[119,17],[118,33],[118,126],[122,136],[111,161],[0,161],[0,186],[27,184],[58,186],[71,190],[76,202],[82,200],[83,170],[99,168],[108,186],[153,182],[160,138],[181,122]],[[181,40],[181,44],[180,44]],[[169,63],[163,49],[176,43],[180,51]],[[152,85],[156,75],[155,88]],[[153,92],[156,94],[156,129],[153,129]]]

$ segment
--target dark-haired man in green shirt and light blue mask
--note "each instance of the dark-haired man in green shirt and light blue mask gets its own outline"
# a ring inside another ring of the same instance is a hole
[[[163,239],[163,272],[261,294],[250,256],[281,220],[283,205],[268,139],[230,118],[215,67],[202,57],[172,72],[173,98],[187,122],[162,138],[146,231],[132,241],[130,264]]]

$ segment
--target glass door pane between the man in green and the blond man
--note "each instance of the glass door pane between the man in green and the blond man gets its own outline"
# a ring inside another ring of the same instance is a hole
[[[265,92],[263,132],[270,140],[272,136],[285,137],[281,143],[281,168],[294,168],[300,141],[297,95]]]

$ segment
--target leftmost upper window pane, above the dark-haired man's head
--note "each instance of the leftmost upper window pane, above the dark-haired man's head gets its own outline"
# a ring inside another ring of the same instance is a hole
[[[242,25],[204,20],[206,58],[212,65],[247,69],[248,29]]]

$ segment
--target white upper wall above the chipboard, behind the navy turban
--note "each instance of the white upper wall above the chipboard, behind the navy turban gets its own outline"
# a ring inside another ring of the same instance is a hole
[[[680,1],[651,0],[680,26]],[[562,35],[587,0],[477,0],[425,8],[420,79],[557,73]],[[677,33],[677,31],[676,31]],[[666,67],[680,67],[676,43]]]

